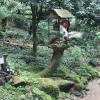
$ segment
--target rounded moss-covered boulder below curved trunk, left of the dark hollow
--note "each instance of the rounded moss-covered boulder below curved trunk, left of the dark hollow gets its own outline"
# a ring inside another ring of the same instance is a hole
[[[37,87],[41,91],[44,91],[46,94],[51,95],[52,97],[58,97],[59,87],[56,82],[51,78],[34,78],[31,79],[30,85]]]

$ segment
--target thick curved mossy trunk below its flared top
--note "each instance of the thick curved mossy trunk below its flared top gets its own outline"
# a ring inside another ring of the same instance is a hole
[[[51,76],[59,67],[61,58],[64,53],[64,46],[61,47],[52,47],[53,49],[53,56],[48,67],[40,73],[40,76]]]

